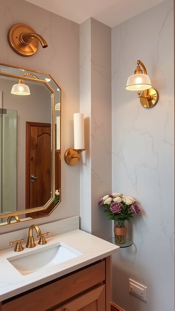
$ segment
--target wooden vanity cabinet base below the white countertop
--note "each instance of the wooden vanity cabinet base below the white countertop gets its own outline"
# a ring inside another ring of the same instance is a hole
[[[0,302],[0,311],[110,311],[110,257]]]

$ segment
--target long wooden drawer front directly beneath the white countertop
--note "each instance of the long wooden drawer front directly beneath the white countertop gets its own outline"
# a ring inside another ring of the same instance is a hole
[[[75,272],[62,280],[23,295],[5,304],[2,311],[45,311],[105,280],[105,261]]]

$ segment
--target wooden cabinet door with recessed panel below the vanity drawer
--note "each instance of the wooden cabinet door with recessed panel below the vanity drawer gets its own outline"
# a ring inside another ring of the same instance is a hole
[[[62,306],[62,311],[105,311],[105,285],[100,285],[93,290],[71,300]],[[59,309],[55,310],[59,311]]]

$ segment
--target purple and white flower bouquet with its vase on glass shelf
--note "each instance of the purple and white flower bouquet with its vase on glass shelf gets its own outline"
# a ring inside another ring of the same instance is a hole
[[[135,199],[124,196],[121,193],[107,194],[102,197],[98,205],[104,206],[109,220],[114,220],[114,236],[116,244],[126,243],[126,221],[134,218],[140,212],[135,204]]]

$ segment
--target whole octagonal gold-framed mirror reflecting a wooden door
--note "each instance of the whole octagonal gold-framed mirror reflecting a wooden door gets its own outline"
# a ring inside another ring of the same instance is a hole
[[[0,64],[0,225],[48,216],[59,204],[60,112],[49,74]]]

